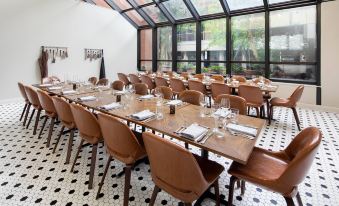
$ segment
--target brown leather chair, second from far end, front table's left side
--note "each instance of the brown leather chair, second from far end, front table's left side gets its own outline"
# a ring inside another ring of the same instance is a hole
[[[38,127],[38,123],[39,123],[39,119],[40,119],[40,115],[41,115],[41,111],[42,111],[42,107],[39,101],[39,97],[37,92],[30,86],[25,86],[25,91],[28,97],[28,100],[30,102],[30,104],[33,106],[33,111],[31,113],[31,117],[29,118],[29,121],[27,123],[26,129],[29,127],[29,125],[31,124],[32,118],[34,116],[35,111],[37,110],[37,115],[35,118],[35,124],[34,124],[34,129],[33,129],[33,135],[36,134],[37,131],[37,127]],[[27,110],[28,111],[28,110]]]

